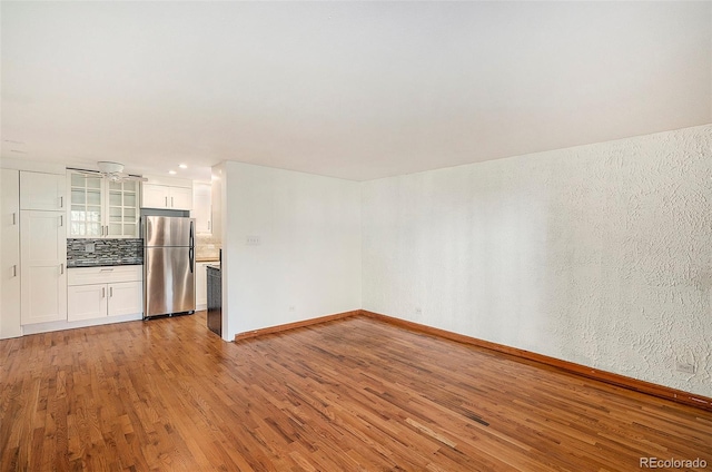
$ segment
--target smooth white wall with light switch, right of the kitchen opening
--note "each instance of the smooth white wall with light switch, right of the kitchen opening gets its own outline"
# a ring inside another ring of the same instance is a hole
[[[359,184],[220,167],[224,337],[360,308]],[[246,244],[248,236],[259,245]]]

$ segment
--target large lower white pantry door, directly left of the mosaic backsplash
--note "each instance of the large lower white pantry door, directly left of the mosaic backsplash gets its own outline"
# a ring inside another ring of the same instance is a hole
[[[22,210],[20,234],[22,324],[67,319],[67,230],[63,212]]]

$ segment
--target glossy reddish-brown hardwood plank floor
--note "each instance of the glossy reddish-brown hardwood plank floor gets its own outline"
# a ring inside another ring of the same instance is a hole
[[[712,470],[711,412],[365,317],[205,325],[0,341],[0,470]]]

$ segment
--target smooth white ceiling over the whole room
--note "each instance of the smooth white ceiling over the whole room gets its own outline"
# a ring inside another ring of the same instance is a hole
[[[712,2],[0,9],[4,158],[364,180],[712,122]]]

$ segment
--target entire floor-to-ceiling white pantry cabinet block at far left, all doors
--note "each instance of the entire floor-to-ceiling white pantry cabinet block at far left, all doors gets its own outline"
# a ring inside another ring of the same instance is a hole
[[[2,169],[0,337],[67,319],[65,176]]]

